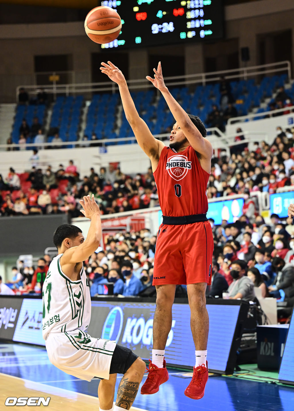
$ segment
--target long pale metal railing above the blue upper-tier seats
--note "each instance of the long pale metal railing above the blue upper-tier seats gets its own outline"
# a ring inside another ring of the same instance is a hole
[[[165,77],[164,82],[167,87],[174,86],[187,86],[187,85],[206,85],[206,83],[216,82],[220,80],[220,77],[225,77],[227,80],[232,79],[244,79],[247,80],[248,77],[264,75],[264,74],[277,74],[277,73],[287,73],[289,79],[291,79],[291,63],[289,61],[281,61],[278,63],[263,64],[259,66],[252,67],[242,67],[239,69],[222,70],[217,72],[199,73],[199,74],[186,74],[183,76],[171,76]],[[54,72],[58,74],[58,72]],[[63,72],[66,73],[66,72]],[[74,72],[68,72],[73,78],[76,76]],[[39,73],[44,74],[44,73]],[[52,73],[48,73],[53,75]],[[127,85],[130,90],[138,89],[148,89],[153,88],[153,85],[146,79],[128,80]],[[52,81],[52,85],[19,85],[16,88],[16,101],[19,94],[19,89],[23,87],[32,95],[37,94],[39,88],[43,88],[47,93],[54,95],[54,98],[58,94],[65,95],[75,95],[77,93],[92,93],[92,92],[112,92],[113,94],[118,92],[118,85],[105,79],[105,81],[100,83],[71,83],[71,84],[58,84],[56,80]]]

